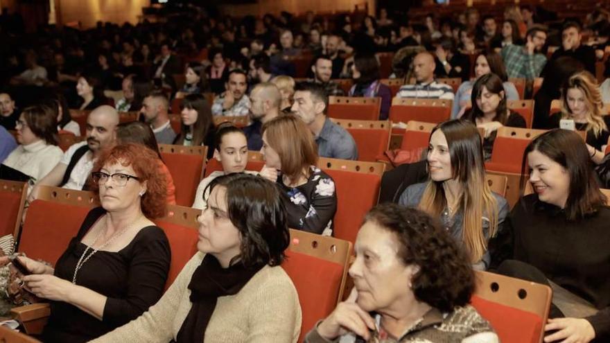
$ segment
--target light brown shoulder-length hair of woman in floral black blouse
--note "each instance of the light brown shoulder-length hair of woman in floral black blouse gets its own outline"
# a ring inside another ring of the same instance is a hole
[[[299,177],[309,177],[309,167],[317,163],[317,145],[305,123],[286,114],[263,124],[261,134],[267,133],[267,143],[277,152],[281,172],[295,182]]]

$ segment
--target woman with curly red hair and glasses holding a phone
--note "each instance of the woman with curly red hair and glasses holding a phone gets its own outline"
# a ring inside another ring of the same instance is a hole
[[[86,342],[139,317],[162,296],[171,252],[151,219],[166,213],[166,179],[153,150],[127,143],[103,152],[89,211],[55,269],[19,257],[28,290],[51,300],[44,342]]]

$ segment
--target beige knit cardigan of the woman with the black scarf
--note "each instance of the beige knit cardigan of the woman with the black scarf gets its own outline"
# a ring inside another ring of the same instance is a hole
[[[186,263],[174,283],[137,319],[92,342],[163,342],[174,339],[191,310],[188,286],[204,254]],[[237,294],[218,298],[205,342],[297,342],[301,306],[295,285],[281,267],[265,265]]]

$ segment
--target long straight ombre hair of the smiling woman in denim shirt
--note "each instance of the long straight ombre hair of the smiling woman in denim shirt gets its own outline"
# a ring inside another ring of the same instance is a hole
[[[480,134],[475,125],[460,119],[440,123],[432,133],[436,130],[441,130],[447,139],[452,176],[462,186],[455,211],[463,213],[462,241],[471,262],[476,263],[487,251],[483,218],[489,220],[489,237],[495,236],[498,229],[498,203],[485,182],[485,159]],[[419,209],[439,218],[446,204],[443,182],[428,179]]]

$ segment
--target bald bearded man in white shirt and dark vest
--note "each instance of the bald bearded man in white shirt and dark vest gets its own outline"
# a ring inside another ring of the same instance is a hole
[[[57,166],[34,187],[28,201],[37,197],[39,185],[83,189],[100,152],[114,143],[116,125],[119,125],[119,112],[111,106],[102,105],[89,113],[87,140],[68,148]]]

